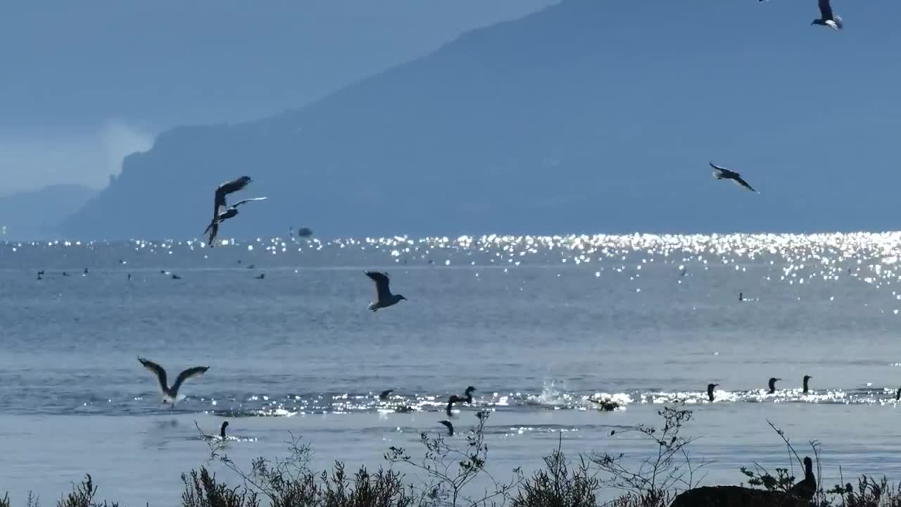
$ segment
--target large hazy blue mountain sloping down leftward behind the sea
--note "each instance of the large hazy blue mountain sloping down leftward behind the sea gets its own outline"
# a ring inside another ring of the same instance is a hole
[[[297,224],[322,236],[894,226],[901,177],[879,171],[873,185],[857,168],[861,156],[895,160],[901,107],[823,106],[858,70],[872,95],[895,97],[851,57],[876,35],[834,50],[850,72],[824,79],[823,46],[836,38],[780,45],[807,26],[763,29],[771,17],[756,2],[711,5],[724,23],[703,26],[678,3],[639,4],[564,0],[301,109],[164,132],[65,231],[196,237],[215,186],[243,174],[254,183],[241,198],[269,199],[220,237]],[[647,43],[649,32],[668,42]],[[774,66],[790,74],[768,76]],[[760,195],[714,180],[708,161]]]

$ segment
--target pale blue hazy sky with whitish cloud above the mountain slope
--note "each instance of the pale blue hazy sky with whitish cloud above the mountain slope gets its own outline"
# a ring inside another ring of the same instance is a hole
[[[0,16],[0,176],[105,186],[179,124],[304,106],[555,0],[14,2]]]

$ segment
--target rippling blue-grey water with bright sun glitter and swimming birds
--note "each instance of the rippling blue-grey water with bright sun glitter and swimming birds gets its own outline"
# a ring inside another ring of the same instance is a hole
[[[173,505],[208,455],[194,422],[226,418],[243,465],[283,456],[291,431],[314,466],[378,466],[389,446],[418,456],[469,384],[474,406],[452,419],[494,410],[497,472],[539,466],[560,435],[570,453],[649,456],[610,429],[656,424],[678,399],[695,410],[691,452],[714,461],[706,484],[787,465],[767,419],[799,452],[823,443],[827,484],[839,465],[898,476],[898,252],[901,235],[0,244],[0,490],[52,503],[90,473],[106,499]],[[408,300],[367,311],[364,269]],[[137,355],[170,378],[210,369],[172,410]]]

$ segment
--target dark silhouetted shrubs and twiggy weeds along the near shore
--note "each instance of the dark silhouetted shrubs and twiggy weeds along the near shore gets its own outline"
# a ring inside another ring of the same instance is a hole
[[[704,461],[693,460],[688,450],[692,438],[681,435],[682,426],[691,419],[691,410],[677,405],[658,412],[662,426],[638,426],[620,430],[646,440],[650,456],[638,466],[628,466],[623,455],[580,455],[570,459],[560,447],[545,456],[544,466],[532,475],[516,468],[504,478],[491,475],[487,468],[488,446],[485,425],[489,412],[477,414],[476,425],[469,430],[465,444],[450,443],[441,435],[422,433],[420,453],[402,447],[390,447],[385,454],[387,466],[375,472],[360,467],[350,474],[336,461],[331,470],[316,472],[310,468],[310,447],[291,435],[288,457],[269,460],[259,457],[244,469],[226,454],[222,441],[208,441],[211,462],[231,469],[241,484],[229,485],[216,480],[205,466],[183,474],[182,507],[666,507],[677,493],[695,488],[703,479]],[[770,424],[772,426],[772,424]],[[800,456],[787,436],[773,427],[789,451]],[[199,428],[198,428],[199,431]],[[202,434],[202,433],[201,433]],[[614,432],[611,432],[613,435]],[[817,442],[809,443],[815,456],[817,484],[822,484]],[[418,457],[414,457],[418,454]],[[775,474],[758,464],[742,467],[747,484],[767,492],[788,492],[796,477],[787,468]],[[405,471],[414,472],[416,482],[406,480]],[[479,479],[477,481],[477,478]],[[843,480],[842,480],[843,482]],[[490,484],[477,488],[474,484]],[[609,492],[616,492],[611,495]],[[603,493],[603,495],[602,495]],[[72,491],[63,495],[58,507],[118,507],[114,502],[95,500],[97,486],[90,475]],[[774,493],[777,494],[777,493]],[[598,496],[613,501],[600,502]],[[807,502],[804,502],[807,504]],[[12,507],[8,495],[0,507]],[[39,499],[29,494],[26,507],[39,507]],[[815,507],[901,507],[901,486],[888,484],[885,477],[866,475],[857,484],[819,487],[809,505]]]

